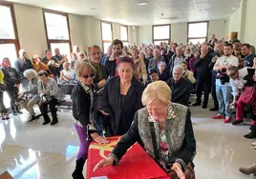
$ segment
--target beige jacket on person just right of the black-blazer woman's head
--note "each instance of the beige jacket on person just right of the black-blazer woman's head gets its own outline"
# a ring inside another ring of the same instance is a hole
[[[144,63],[144,60],[141,58],[136,59],[135,61],[135,77],[137,79],[142,80],[144,83],[147,81],[147,70]]]

